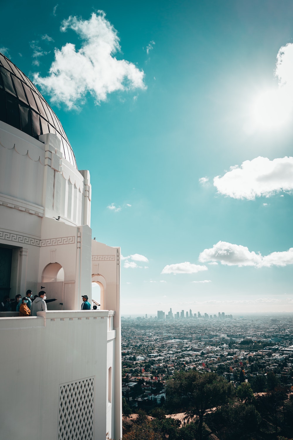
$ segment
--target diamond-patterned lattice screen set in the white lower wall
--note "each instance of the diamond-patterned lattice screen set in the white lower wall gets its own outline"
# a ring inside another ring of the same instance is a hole
[[[94,377],[60,385],[58,440],[94,439]]]

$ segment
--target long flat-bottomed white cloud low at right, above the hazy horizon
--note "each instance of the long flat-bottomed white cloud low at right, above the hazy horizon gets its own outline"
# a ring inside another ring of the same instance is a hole
[[[293,264],[293,248],[284,252],[273,252],[262,256],[260,253],[250,252],[246,246],[227,242],[218,242],[213,248],[205,249],[199,254],[199,261],[219,261],[228,266],[254,266],[257,268],[271,266],[286,266]]]

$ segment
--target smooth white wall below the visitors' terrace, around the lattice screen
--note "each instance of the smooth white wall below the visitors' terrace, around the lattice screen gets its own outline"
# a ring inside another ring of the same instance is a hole
[[[113,369],[112,314],[38,312],[37,318],[0,319],[0,396],[5,396],[0,399],[1,438],[58,439],[60,385],[90,377],[94,377],[93,440],[105,440],[107,432],[113,435],[114,402],[108,402],[104,380],[109,367]]]

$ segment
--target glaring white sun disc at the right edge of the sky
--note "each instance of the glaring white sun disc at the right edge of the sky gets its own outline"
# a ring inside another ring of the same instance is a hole
[[[289,121],[291,110],[291,102],[285,89],[267,90],[255,99],[252,118],[259,128],[279,128]]]

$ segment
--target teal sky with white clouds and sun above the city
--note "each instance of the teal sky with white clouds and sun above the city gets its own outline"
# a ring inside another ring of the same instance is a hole
[[[122,315],[293,312],[292,1],[0,4],[121,247]]]

